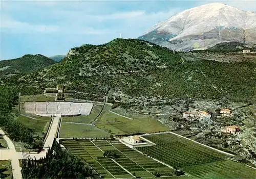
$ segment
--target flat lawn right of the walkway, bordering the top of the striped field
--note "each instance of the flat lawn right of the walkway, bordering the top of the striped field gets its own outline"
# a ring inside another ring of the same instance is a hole
[[[72,137],[110,137],[110,134],[93,125],[61,123],[60,138]]]

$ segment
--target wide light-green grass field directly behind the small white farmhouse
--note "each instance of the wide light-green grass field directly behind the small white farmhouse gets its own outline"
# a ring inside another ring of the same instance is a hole
[[[115,114],[112,116],[114,115]],[[151,119],[150,117],[126,119],[118,115],[115,116],[116,117],[114,118],[104,119],[108,120],[109,123],[97,123],[96,126],[103,130],[111,130],[111,133],[115,135],[156,133],[169,130],[168,127],[161,124],[161,122],[155,119]],[[114,122],[116,119],[117,122]]]

